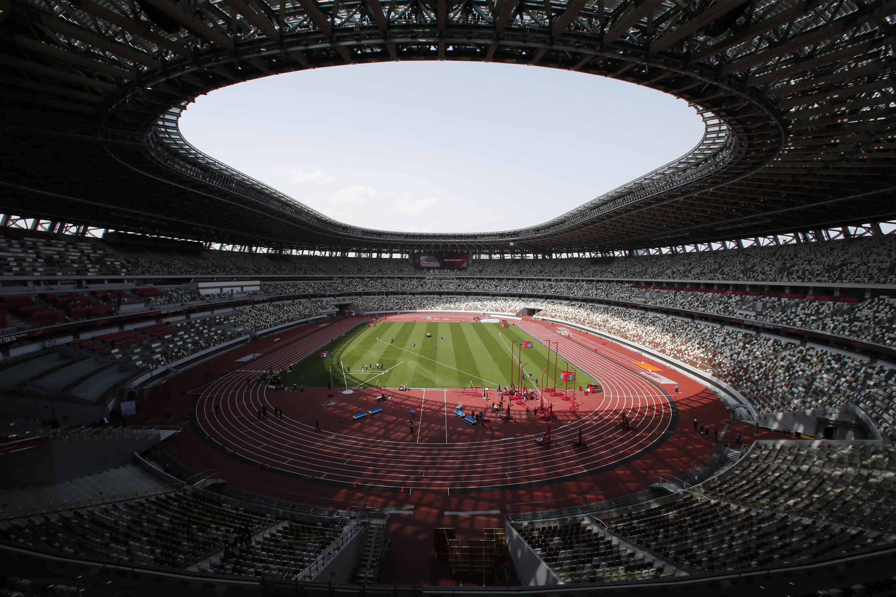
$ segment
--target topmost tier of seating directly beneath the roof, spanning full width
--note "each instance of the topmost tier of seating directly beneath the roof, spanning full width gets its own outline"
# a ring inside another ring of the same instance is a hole
[[[39,236],[39,237],[38,237]],[[429,277],[609,277],[821,284],[896,283],[896,235],[719,251],[590,259],[480,260],[460,270],[414,269],[407,259],[322,258],[127,247],[77,236],[0,234],[7,276],[332,275]]]

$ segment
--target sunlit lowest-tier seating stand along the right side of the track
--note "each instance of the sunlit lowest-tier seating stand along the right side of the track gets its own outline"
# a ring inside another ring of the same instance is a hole
[[[538,315],[601,329],[709,371],[737,388],[761,413],[861,406],[883,433],[896,439],[896,370],[882,364],[743,330],[614,307],[551,303]]]

